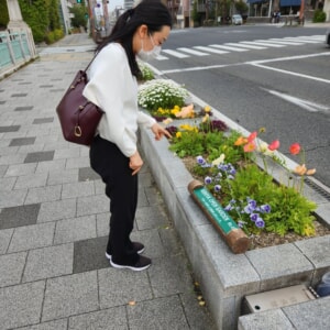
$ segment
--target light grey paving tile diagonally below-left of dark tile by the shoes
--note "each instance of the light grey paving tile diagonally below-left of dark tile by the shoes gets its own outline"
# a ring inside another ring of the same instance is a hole
[[[42,321],[99,309],[97,272],[47,280]]]

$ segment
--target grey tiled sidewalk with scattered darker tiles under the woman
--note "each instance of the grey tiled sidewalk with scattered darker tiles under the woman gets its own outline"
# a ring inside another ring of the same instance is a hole
[[[105,257],[103,184],[55,113],[91,56],[51,52],[0,81],[0,329],[215,329],[147,164],[133,239],[153,265],[114,270]]]

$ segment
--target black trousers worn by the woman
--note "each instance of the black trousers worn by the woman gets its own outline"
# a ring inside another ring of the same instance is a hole
[[[97,135],[90,145],[90,165],[106,184],[110,198],[110,232],[107,252],[114,263],[135,263],[130,234],[138,205],[138,175],[132,175],[128,158],[119,147]]]

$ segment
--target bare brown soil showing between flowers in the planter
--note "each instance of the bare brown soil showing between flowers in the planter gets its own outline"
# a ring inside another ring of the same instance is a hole
[[[195,157],[185,157],[183,158],[183,162],[186,166],[186,168],[193,173],[193,168],[196,165],[196,158]],[[194,176],[196,179],[204,180],[200,177]],[[329,235],[330,234],[330,228],[327,227],[326,224],[321,223],[320,221],[315,220],[315,235],[312,238],[317,237],[323,237],[323,235]],[[251,235],[251,246],[249,250],[256,250],[256,249],[262,249],[262,248],[267,248],[267,246],[275,246],[275,245],[280,245],[280,244],[286,244],[286,243],[293,243],[297,241],[302,241],[302,240],[308,240],[311,237],[301,237],[295,232],[288,232],[284,237],[280,237],[279,234],[276,233],[271,233],[271,232],[262,232],[261,234],[257,235]]]

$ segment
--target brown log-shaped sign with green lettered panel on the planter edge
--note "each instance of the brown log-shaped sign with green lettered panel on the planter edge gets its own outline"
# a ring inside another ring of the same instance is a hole
[[[244,253],[250,246],[250,239],[223,210],[212,194],[199,180],[190,182],[188,190],[232,252],[235,254]]]

